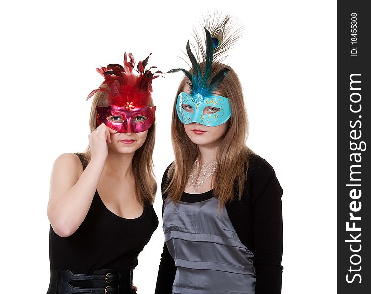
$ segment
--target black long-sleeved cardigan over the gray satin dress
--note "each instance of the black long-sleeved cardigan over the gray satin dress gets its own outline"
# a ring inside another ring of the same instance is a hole
[[[169,167],[162,178],[162,192],[166,187]],[[254,253],[255,294],[280,294],[283,269],[282,188],[272,166],[260,156],[251,154],[241,200],[238,200],[237,193],[236,189],[235,199],[225,207],[239,239]],[[166,196],[162,193],[163,200]],[[155,294],[172,294],[175,272],[174,260],[165,243]]]

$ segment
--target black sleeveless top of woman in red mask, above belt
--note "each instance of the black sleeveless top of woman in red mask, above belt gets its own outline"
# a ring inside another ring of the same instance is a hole
[[[83,157],[79,156],[81,162]],[[85,169],[84,165],[84,169]],[[159,224],[152,205],[136,219],[124,219],[104,205],[95,192],[85,220],[71,236],[58,236],[50,227],[50,268],[93,274],[99,269],[129,270]]]

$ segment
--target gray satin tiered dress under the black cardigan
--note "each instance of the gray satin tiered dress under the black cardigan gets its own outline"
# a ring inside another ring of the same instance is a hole
[[[166,200],[165,242],[177,267],[175,294],[255,293],[253,253],[239,240],[214,197],[200,202]]]

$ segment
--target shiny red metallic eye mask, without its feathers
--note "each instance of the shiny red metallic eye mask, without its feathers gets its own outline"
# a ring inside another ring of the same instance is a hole
[[[128,107],[132,110],[126,107],[96,106],[97,125],[104,123],[119,133],[140,133],[150,128],[155,119],[156,106]]]

